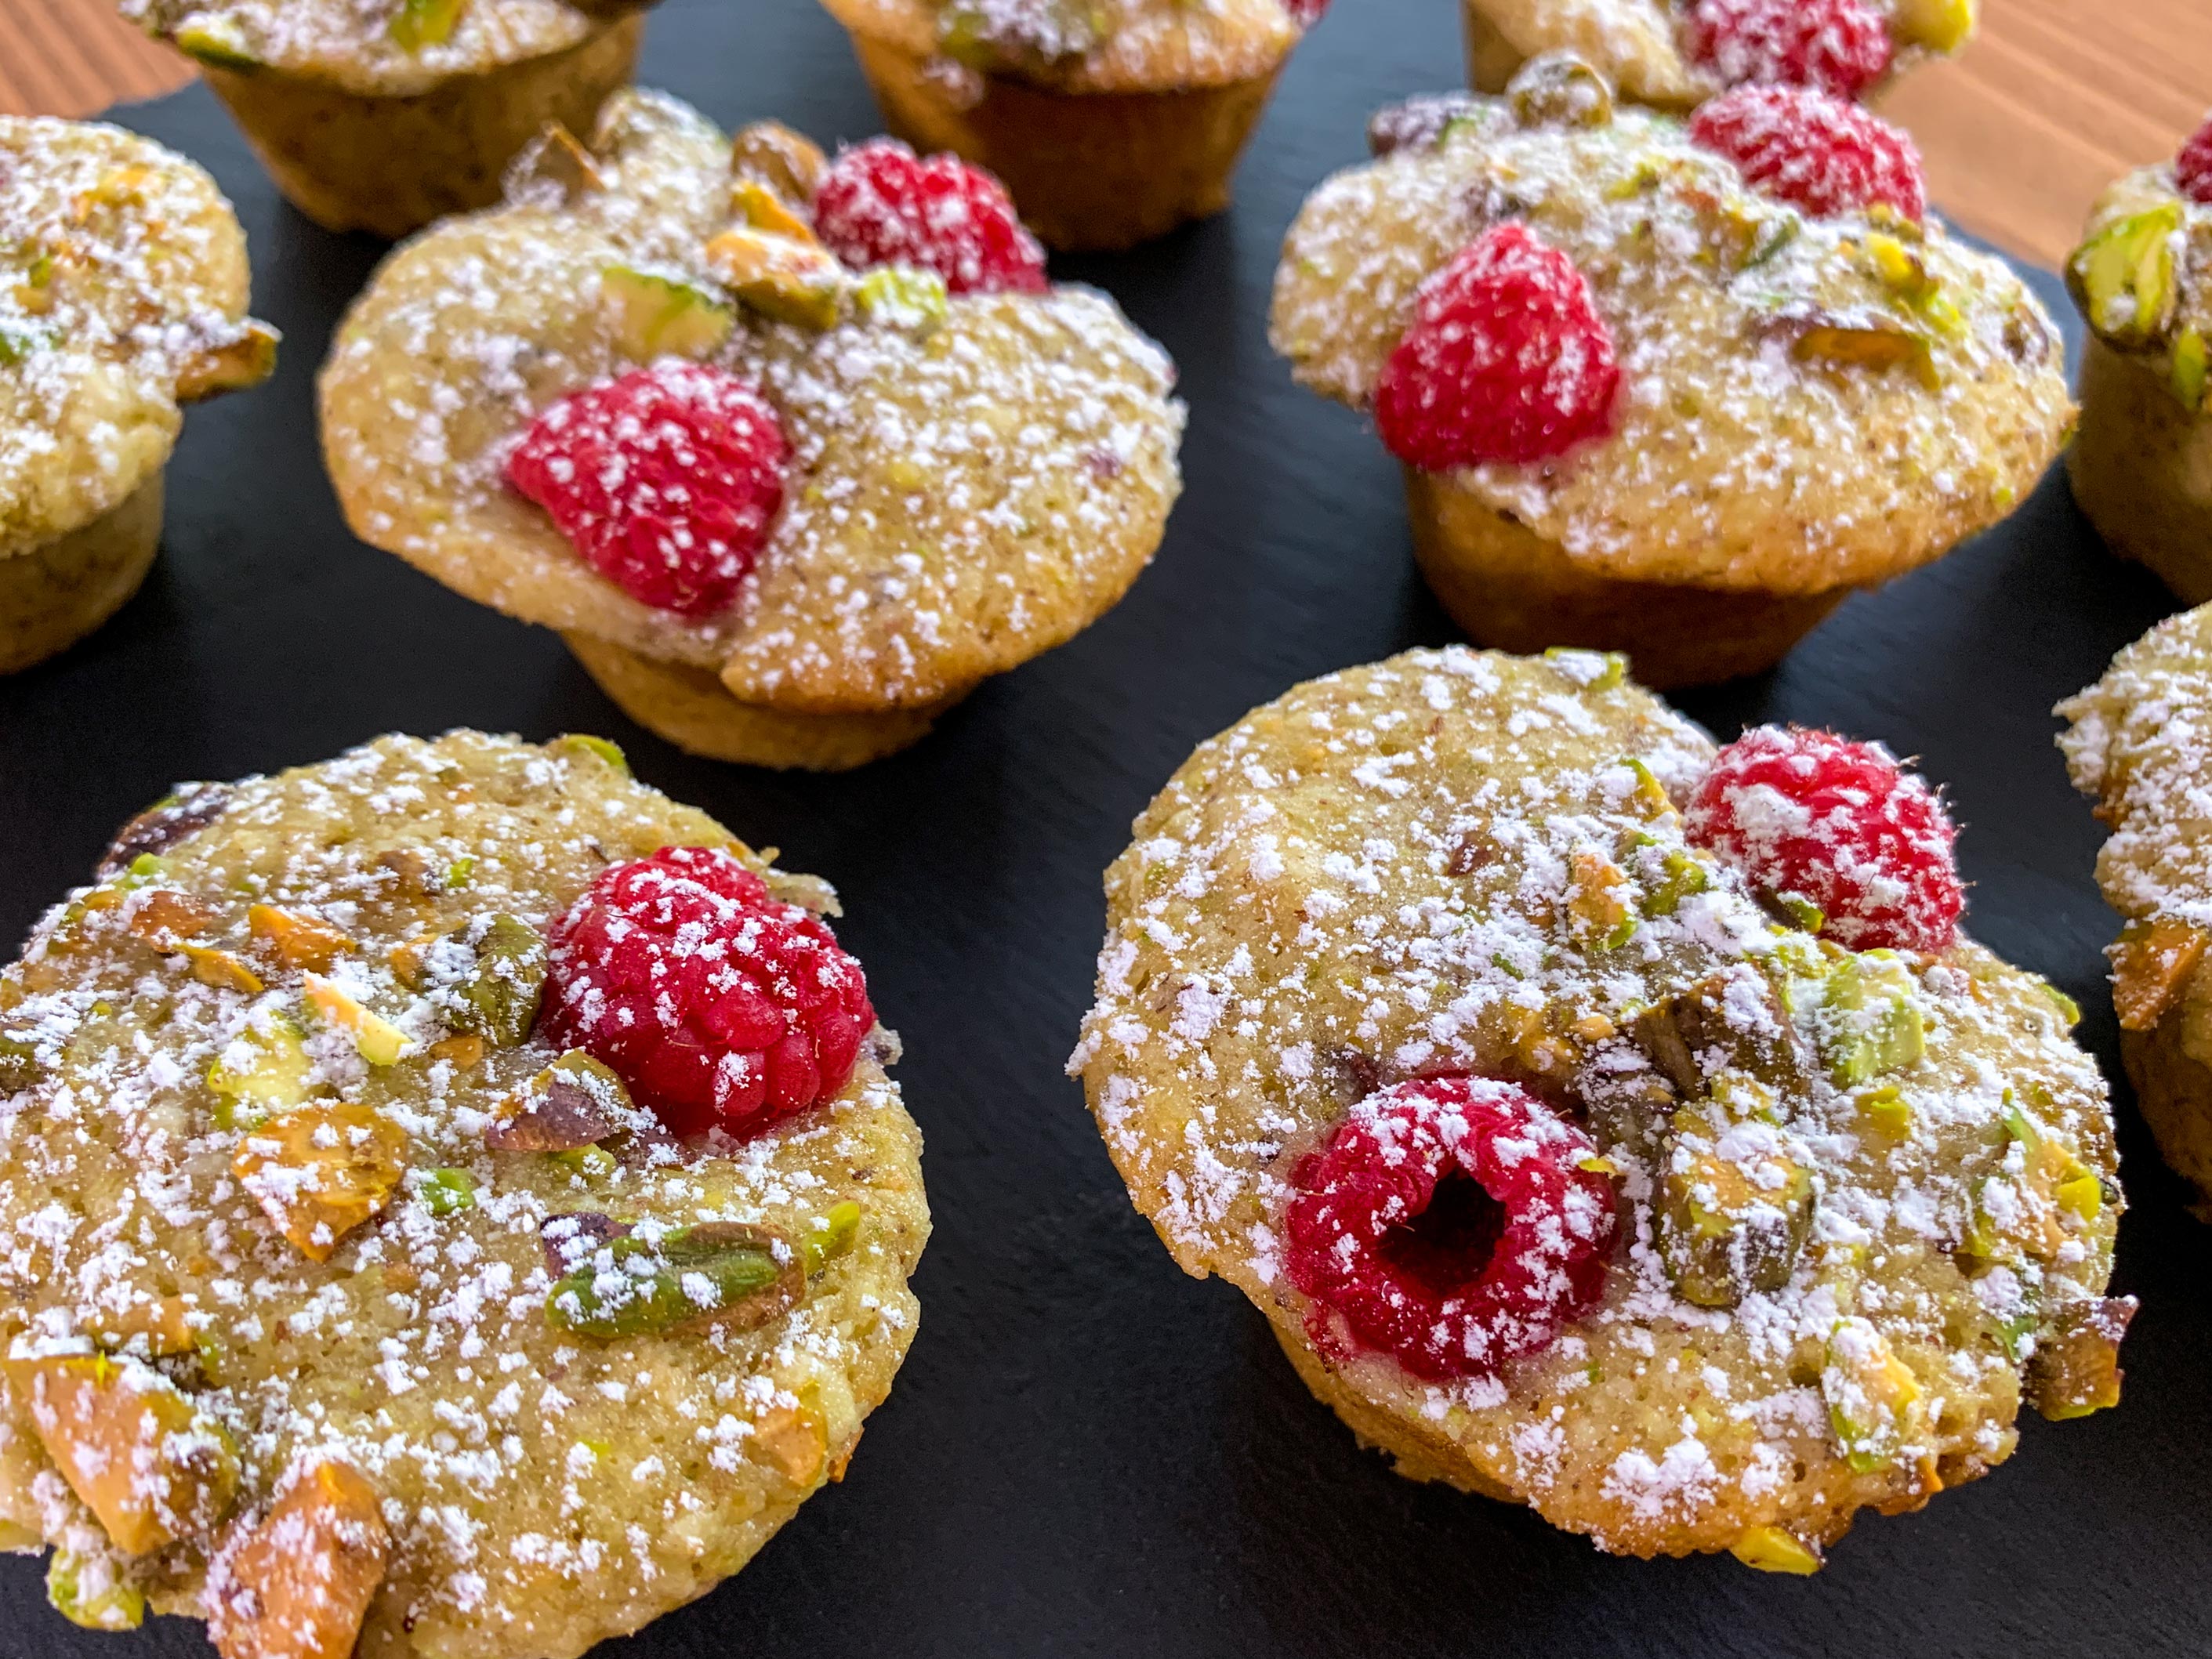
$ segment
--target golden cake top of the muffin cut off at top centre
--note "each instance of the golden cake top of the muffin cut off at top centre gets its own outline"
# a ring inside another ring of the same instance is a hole
[[[1064,93],[1159,93],[1274,73],[1327,0],[825,0],[854,33]]]

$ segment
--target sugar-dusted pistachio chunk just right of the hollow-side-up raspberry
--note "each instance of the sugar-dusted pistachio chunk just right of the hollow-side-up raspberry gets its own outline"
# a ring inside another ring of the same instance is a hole
[[[1661,1179],[1659,1254],[1677,1294],[1734,1307],[1790,1283],[1812,1237],[1812,1172],[1781,1152],[1721,1155],[1701,1119],[1677,1115]]]

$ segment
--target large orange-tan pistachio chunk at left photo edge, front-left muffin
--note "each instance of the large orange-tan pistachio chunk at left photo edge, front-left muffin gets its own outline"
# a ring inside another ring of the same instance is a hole
[[[135,1358],[49,1354],[7,1363],[46,1455],[128,1555],[204,1535],[230,1511],[230,1436]]]

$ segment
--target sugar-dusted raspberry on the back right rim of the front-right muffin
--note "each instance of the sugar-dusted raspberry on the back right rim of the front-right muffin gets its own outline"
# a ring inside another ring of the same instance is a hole
[[[1756,887],[1816,905],[1854,951],[1942,951],[1966,902],[1951,816],[1880,743],[1754,726],[1714,759],[1683,830]]]

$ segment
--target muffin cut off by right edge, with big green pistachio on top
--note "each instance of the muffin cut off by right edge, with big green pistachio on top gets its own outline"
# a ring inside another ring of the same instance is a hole
[[[2212,122],[2099,197],[2066,261],[2088,323],[2075,500],[2121,557],[2212,599]]]

